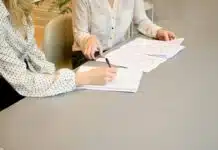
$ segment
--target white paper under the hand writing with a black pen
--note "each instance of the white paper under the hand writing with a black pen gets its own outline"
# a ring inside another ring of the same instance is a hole
[[[79,71],[88,71],[94,67],[82,66]],[[143,73],[135,69],[118,68],[115,80],[103,86],[85,85],[78,89],[102,90],[102,91],[120,91],[137,92]]]

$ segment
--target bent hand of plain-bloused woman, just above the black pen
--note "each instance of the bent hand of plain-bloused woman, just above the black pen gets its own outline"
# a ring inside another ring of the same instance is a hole
[[[88,59],[95,59],[95,52],[98,51],[100,44],[95,36],[91,36],[87,40],[86,48],[83,50],[83,54]]]

